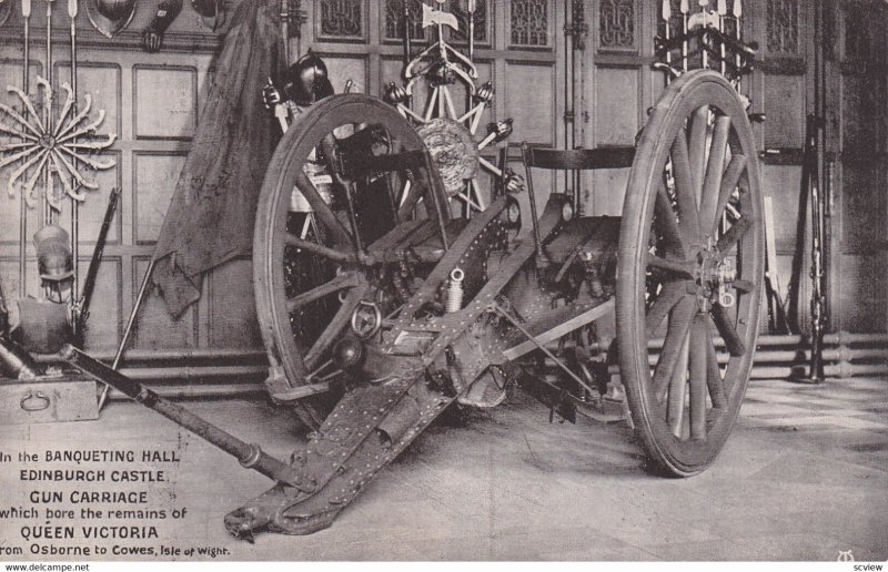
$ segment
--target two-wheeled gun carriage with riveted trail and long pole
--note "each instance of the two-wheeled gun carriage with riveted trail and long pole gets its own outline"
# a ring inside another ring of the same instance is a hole
[[[453,215],[460,191],[441,173],[452,165],[398,111],[396,90],[389,102],[332,95],[294,121],[268,170],[253,257],[268,390],[314,428],[289,463],[73,348],[67,358],[276,481],[226,517],[239,538],[330,525],[454,402],[494,407],[517,384],[564,418],[595,411],[616,364],[653,466],[699,473],[753,365],[764,231],[737,91],[754,50],[737,24],[734,38],[706,17],[699,30],[687,21],[658,41],[676,79],[634,150],[524,145],[526,190],[501,165],[471,216]],[[722,69],[689,71],[689,43]],[[470,154],[447,152],[460,164]],[[581,216],[577,196],[533,184],[533,168],[623,167],[622,217]]]

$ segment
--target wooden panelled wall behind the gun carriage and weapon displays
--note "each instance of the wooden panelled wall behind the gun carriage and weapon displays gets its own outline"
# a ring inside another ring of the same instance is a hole
[[[351,80],[355,91],[380,95],[390,81],[400,81],[401,1],[291,2],[305,17],[297,27],[300,35],[291,40],[293,53],[309,48],[321,53],[337,91]],[[418,16],[418,3],[412,1]],[[674,3],[677,13],[678,0]],[[829,3],[835,24],[830,33],[836,34],[838,45],[829,68],[831,83],[838,89],[828,90],[833,132],[837,133],[830,144],[838,160],[830,298],[836,309],[833,329],[867,331],[885,329],[888,300],[885,280],[872,279],[874,273],[885,276],[886,254],[871,246],[886,238],[888,98],[885,29],[867,23],[871,28],[868,39],[859,40],[856,30],[861,25],[857,20],[862,3],[864,0]],[[476,61],[482,81],[490,79],[496,89],[485,123],[514,119],[515,131],[509,140],[514,168],[521,168],[517,145],[522,141],[564,146],[569,140],[565,135],[573,133],[578,143],[588,147],[633,144],[647,109],[664,86],[663,75],[650,70],[658,4],[659,0],[478,1]],[[814,13],[811,3],[804,0],[753,0],[744,4],[746,35],[758,41],[764,52],[761,65],[745,82],[744,91],[753,100],[753,111],[768,115],[765,125],[755,127],[759,145],[781,152],[774,155],[777,159],[769,159],[763,170],[766,193],[774,197],[777,210],[780,282],[786,292],[796,249],[805,116],[813,109]],[[451,2],[456,11],[461,6],[457,0]],[[67,22],[62,21],[67,17],[61,6],[57,12],[56,21],[61,23],[56,33],[53,76],[64,79],[70,75]],[[168,34],[165,49],[147,54],[138,47],[139,30],[150,16],[143,12],[148,11],[140,7],[130,29],[114,40],[99,37],[83,14],[79,21],[83,45],[79,58],[81,93],[90,92],[95,106],[108,111],[103,132],[120,135],[113,147],[118,166],[98,176],[101,190],[81,212],[84,262],[92,251],[110,188],[123,188],[90,320],[90,348],[113,347],[122,334],[196,125],[216,45],[215,38],[186,6]],[[42,17],[32,20],[34,38],[42,38]],[[583,50],[576,52],[577,73],[564,65],[566,21],[587,27]],[[418,25],[412,30],[414,38],[423,33]],[[13,16],[0,33],[3,85],[21,82],[19,34],[20,22]],[[32,58],[32,73],[42,74],[39,62],[46,57],[37,41]],[[861,61],[867,62],[862,68]],[[577,85],[574,121],[565,121],[565,108],[569,105],[565,100],[565,78]],[[418,99],[422,102],[423,94]],[[460,101],[458,95],[455,100]],[[874,123],[870,109],[880,110],[881,123]],[[861,161],[862,157],[867,160]],[[557,188],[563,181],[544,178],[543,172],[538,177],[543,188]],[[587,178],[582,190],[585,213],[618,215],[626,178],[625,170],[597,172]],[[4,184],[0,177],[0,187]],[[18,201],[0,197],[0,279],[12,297],[18,292]],[[34,225],[32,216],[29,228]],[[801,280],[803,310],[807,306],[806,276],[807,266]],[[29,273],[29,292],[33,293],[34,272]],[[144,349],[259,345],[249,261],[235,261],[212,273],[204,280],[201,302],[180,321],[172,321],[162,302],[151,296],[134,338],[134,346]]]

